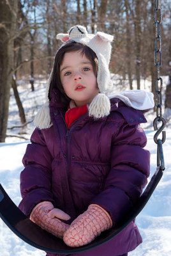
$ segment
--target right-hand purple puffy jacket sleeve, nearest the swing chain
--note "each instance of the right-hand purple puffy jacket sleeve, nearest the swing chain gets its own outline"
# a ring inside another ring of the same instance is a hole
[[[140,125],[122,125],[111,146],[111,168],[103,191],[91,204],[98,204],[110,213],[113,225],[140,197],[147,184],[150,154],[143,147],[147,139]]]

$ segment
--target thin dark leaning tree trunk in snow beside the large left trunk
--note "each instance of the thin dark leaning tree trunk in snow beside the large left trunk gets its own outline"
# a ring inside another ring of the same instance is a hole
[[[17,83],[16,83],[16,80],[15,80],[14,77],[12,78],[12,83],[11,84],[12,84],[15,100],[16,100],[17,106],[19,108],[20,120],[21,120],[21,123],[24,124],[24,123],[26,123],[26,116],[25,116],[25,113],[24,113],[24,108],[22,106],[22,102],[20,101],[19,92],[17,90]]]

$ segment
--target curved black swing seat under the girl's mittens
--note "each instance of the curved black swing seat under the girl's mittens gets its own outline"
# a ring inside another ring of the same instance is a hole
[[[96,237],[94,241],[85,246],[80,246],[78,248],[71,248],[64,244],[62,239],[59,239],[52,234],[49,234],[45,230],[41,229],[29,220],[26,215],[20,211],[17,205],[11,200],[4,191],[0,184],[0,217],[6,223],[6,225],[17,235],[20,239],[24,240],[26,243],[38,248],[40,250],[59,253],[59,254],[72,254],[79,253],[85,250],[94,248],[102,243],[107,242],[112,237],[116,236],[123,230],[131,221],[133,221],[136,216],[142,211],[145,204],[151,197],[154,189],[160,182],[163,175],[163,170],[157,168],[156,172],[152,176],[149,184],[147,185],[144,193],[140,196],[137,204],[135,204],[130,211],[128,211],[124,218],[117,224],[116,227],[111,228],[105,232],[102,232],[100,236]]]

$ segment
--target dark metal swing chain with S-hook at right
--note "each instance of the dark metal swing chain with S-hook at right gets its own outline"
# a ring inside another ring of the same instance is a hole
[[[154,64],[157,70],[157,76],[155,79],[155,92],[156,92],[156,118],[154,118],[154,141],[158,144],[157,152],[157,165],[160,166],[161,170],[165,170],[165,162],[163,157],[162,144],[166,140],[166,132],[163,131],[166,125],[165,118],[162,116],[162,90],[163,90],[163,79],[160,77],[161,67],[161,35],[160,35],[160,24],[161,24],[161,8],[160,0],[154,0],[154,26],[155,26],[155,38],[154,38]],[[161,127],[158,129],[157,122],[162,122]],[[162,131],[162,139],[158,139],[158,135]]]

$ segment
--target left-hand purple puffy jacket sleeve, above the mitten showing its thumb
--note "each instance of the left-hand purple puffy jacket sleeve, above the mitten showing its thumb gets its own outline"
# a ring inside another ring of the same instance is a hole
[[[31,144],[27,145],[23,157],[24,170],[20,173],[22,201],[19,208],[29,216],[34,206],[43,201],[53,204],[51,188],[52,156],[45,145],[40,129],[35,129]]]

